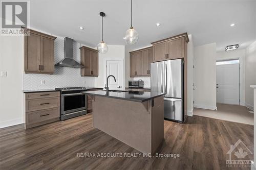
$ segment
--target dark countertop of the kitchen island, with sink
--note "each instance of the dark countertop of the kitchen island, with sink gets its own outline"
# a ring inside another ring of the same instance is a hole
[[[161,95],[164,95],[160,92],[149,92],[149,91],[119,91],[119,92],[109,92],[109,95],[106,95],[105,91],[83,91],[81,93],[104,96],[106,98],[114,98],[120,100],[134,101],[134,102],[145,102],[154,98],[157,98]]]

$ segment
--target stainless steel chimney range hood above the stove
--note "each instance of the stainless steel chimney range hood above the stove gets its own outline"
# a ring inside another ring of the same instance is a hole
[[[55,64],[55,66],[61,67],[72,67],[72,68],[84,68],[83,65],[76,62],[73,59],[73,39],[65,37],[64,38],[64,59]]]

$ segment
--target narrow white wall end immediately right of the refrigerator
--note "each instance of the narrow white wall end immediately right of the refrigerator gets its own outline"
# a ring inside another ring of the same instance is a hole
[[[192,116],[194,110],[194,75],[193,75],[193,65],[194,65],[194,43],[192,35],[188,35],[189,42],[187,43],[187,115]]]

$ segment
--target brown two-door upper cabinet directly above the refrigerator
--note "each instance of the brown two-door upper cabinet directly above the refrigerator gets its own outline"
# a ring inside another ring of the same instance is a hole
[[[160,41],[152,42],[153,61],[173,60],[184,58],[186,43],[189,41],[187,33],[174,37],[166,38]]]

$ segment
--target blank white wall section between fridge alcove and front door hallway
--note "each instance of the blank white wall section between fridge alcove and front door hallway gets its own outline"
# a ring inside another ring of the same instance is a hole
[[[217,109],[216,106],[216,43],[195,47],[194,107]]]

